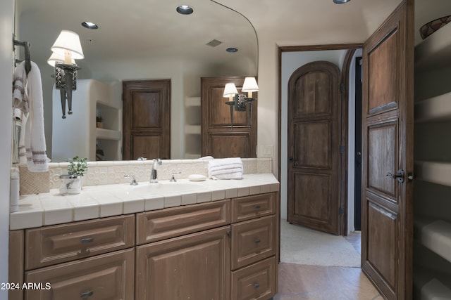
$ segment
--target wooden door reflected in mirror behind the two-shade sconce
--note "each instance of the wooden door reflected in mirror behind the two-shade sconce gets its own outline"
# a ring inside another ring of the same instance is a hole
[[[245,77],[201,78],[201,155],[221,157],[257,157],[257,106],[249,112],[233,110],[233,130],[230,126],[230,106],[223,97],[226,83],[233,82],[240,93]],[[253,94],[257,98],[257,93]],[[248,106],[249,109],[249,106]],[[252,121],[251,121],[252,120]],[[249,128],[251,124],[251,128]]]

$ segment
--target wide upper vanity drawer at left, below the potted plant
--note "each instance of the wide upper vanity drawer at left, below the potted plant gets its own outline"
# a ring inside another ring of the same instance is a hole
[[[133,247],[135,215],[25,230],[25,270]]]

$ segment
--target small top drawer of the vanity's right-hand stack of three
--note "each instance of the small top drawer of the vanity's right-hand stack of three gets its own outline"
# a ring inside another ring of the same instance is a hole
[[[232,200],[232,222],[276,214],[276,193],[240,197]]]

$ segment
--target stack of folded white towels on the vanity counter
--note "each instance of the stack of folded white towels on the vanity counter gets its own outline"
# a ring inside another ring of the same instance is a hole
[[[240,157],[209,160],[209,178],[242,179],[242,161]]]

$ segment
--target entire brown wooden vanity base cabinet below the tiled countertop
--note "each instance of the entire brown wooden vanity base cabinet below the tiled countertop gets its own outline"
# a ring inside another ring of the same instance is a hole
[[[9,282],[34,288],[8,299],[270,299],[278,207],[257,193],[11,231]]]

